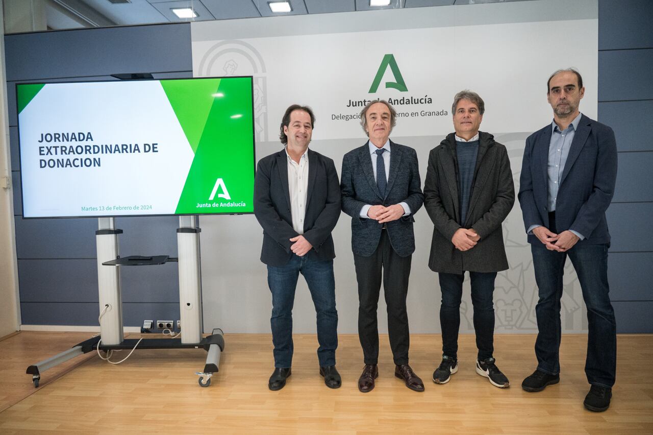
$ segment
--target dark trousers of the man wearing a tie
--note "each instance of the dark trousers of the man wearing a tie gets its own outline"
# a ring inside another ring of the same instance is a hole
[[[377,308],[383,273],[383,295],[388,310],[388,334],[395,364],[408,364],[408,314],[406,295],[410,275],[411,255],[400,257],[390,245],[386,230],[370,257],[354,254],[358,282],[358,338],[365,364],[377,364],[379,359],[379,328]]]

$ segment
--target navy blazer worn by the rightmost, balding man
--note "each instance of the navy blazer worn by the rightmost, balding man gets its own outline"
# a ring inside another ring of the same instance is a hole
[[[526,139],[519,204],[526,231],[532,225],[549,228],[547,165],[551,125]],[[605,210],[614,195],[616,141],[607,125],[581,116],[562,172],[556,199],[556,230],[573,230],[585,238],[579,243],[609,244]],[[528,242],[540,243],[535,234]]]

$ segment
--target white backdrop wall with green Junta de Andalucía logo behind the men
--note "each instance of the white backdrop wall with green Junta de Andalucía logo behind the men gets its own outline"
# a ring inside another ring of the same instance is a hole
[[[564,13],[562,13],[564,11]],[[570,36],[575,43],[569,46]],[[428,152],[453,131],[451,101],[461,89],[485,100],[482,131],[505,144],[518,189],[525,138],[550,123],[545,86],[556,69],[582,72],[581,111],[596,119],[597,1],[540,0],[489,5],[345,12],[317,16],[198,22],[191,25],[193,75],[253,75],[256,157],[276,152],[279,121],[293,103],[313,107],[317,121],[311,148],[334,159],[364,144],[353,118],[359,101],[398,100],[401,116],[390,137],[412,146],[422,184]],[[370,92],[382,59],[392,54],[407,90],[385,69]],[[352,118],[352,119],[347,119]],[[408,295],[411,332],[439,332],[440,291],[427,266],[433,225],[424,209],[415,214],[416,251]],[[357,332],[357,285],[350,218],[334,230],[336,302],[341,333]],[[262,230],[252,215],[202,217],[204,327],[227,332],[269,332],[271,297],[266,267],[259,261]],[[497,332],[534,332],[537,289],[518,202],[503,224],[511,268],[500,272],[494,293]],[[565,332],[586,330],[581,289],[569,264],[562,320]],[[461,332],[471,332],[466,284]],[[379,329],[387,330],[379,300]],[[315,332],[315,312],[300,279],[295,332]]]

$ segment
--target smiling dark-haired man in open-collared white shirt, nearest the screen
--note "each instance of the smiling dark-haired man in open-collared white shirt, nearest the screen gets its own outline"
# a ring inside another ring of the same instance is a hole
[[[301,273],[317,312],[317,358],[327,387],[341,385],[336,370],[336,312],[333,231],[340,217],[340,185],[328,157],[308,149],[315,116],[292,105],[281,121],[285,148],[259,161],[254,182],[254,214],[263,227],[261,261],[268,266],[272,292],[274,372],[268,387],[283,388],[293,360],[293,302]]]

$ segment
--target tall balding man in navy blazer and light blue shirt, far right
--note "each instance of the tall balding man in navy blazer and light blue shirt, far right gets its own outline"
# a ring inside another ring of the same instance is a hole
[[[584,406],[610,406],[616,370],[616,323],[609,297],[610,233],[605,210],[616,180],[616,142],[610,127],[579,112],[584,95],[575,69],[554,72],[547,82],[553,122],[526,139],[519,202],[533,253],[539,300],[537,370],[524,379],[526,391],[560,381],[560,297],[567,255],[587,306],[585,374],[591,385]]]

